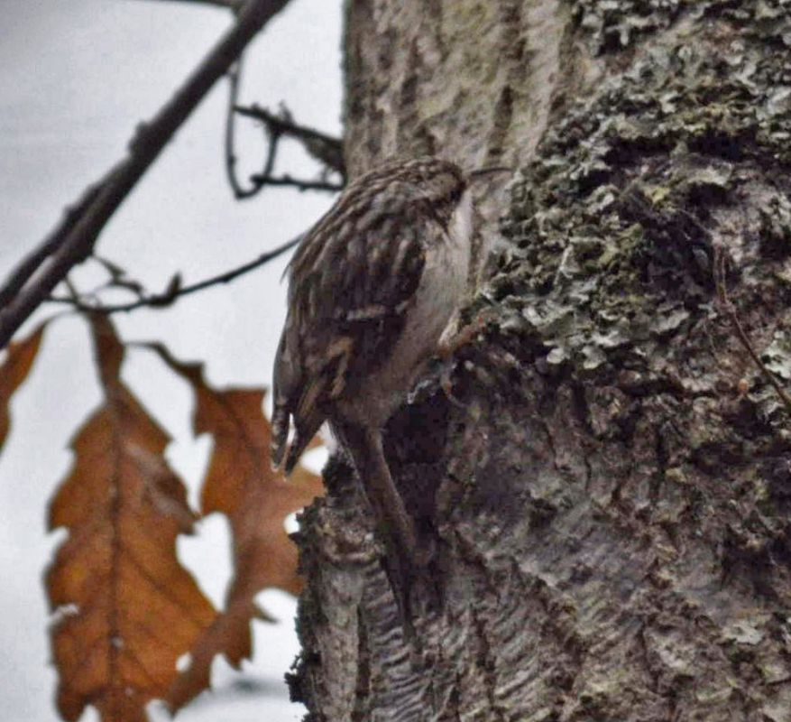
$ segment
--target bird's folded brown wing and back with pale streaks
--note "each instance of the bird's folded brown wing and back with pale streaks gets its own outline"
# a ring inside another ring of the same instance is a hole
[[[331,212],[306,236],[291,264],[289,318],[275,361],[276,464],[290,419],[297,431],[287,472],[328,405],[355,376],[375,372],[390,356],[418,289],[425,248],[445,232],[425,208],[403,202],[370,209],[367,217]]]

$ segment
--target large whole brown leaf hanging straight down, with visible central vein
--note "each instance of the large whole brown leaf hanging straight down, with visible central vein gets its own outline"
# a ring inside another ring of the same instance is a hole
[[[104,403],[72,441],[50,508],[50,528],[69,530],[47,573],[58,708],[67,720],[91,704],[105,722],[142,722],[216,613],[176,558],[194,514],[162,457],[169,438],[120,380],[109,321],[92,329]]]

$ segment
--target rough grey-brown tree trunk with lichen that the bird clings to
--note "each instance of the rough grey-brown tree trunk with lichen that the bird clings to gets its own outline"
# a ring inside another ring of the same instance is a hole
[[[389,429],[440,551],[413,638],[341,461],[305,514],[309,719],[791,719],[791,419],[768,378],[791,380],[789,18],[347,4],[353,175],[391,153],[520,172],[482,199],[503,240],[461,403],[429,377]]]

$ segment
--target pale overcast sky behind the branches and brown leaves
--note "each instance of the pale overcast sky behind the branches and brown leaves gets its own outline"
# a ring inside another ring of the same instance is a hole
[[[300,123],[340,134],[340,5],[340,0],[291,0],[253,44],[243,101],[271,108],[284,101]],[[5,277],[55,225],[62,208],[120,158],[134,126],[170,97],[230,17],[216,8],[163,0],[0,0],[0,8],[0,277]],[[101,255],[152,290],[161,290],[175,271],[190,282],[242,264],[304,231],[332,201],[292,190],[235,201],[222,166],[225,99],[221,83],[101,236]],[[260,147],[249,143],[253,136],[247,140],[241,150],[253,159]],[[282,156],[281,168],[313,171],[297,151]],[[171,310],[140,310],[115,320],[126,339],[161,338],[180,358],[205,361],[213,384],[268,385],[285,313],[279,280],[286,262],[189,296]],[[89,288],[97,276],[86,267],[76,278]],[[168,458],[188,480],[195,502],[209,448],[207,440],[191,438],[188,388],[142,352],[130,354],[124,379],[175,437]],[[60,319],[48,330],[32,376],[15,398],[12,434],[0,457],[4,722],[57,719],[41,575],[64,532],[47,534],[46,504],[69,468],[69,438],[98,398],[86,329],[77,319]],[[179,555],[219,605],[230,570],[225,523],[215,515],[198,531],[197,539],[179,543]],[[242,677],[255,680],[261,690],[235,696],[229,691],[234,673],[216,663],[219,691],[204,695],[179,719],[301,717],[282,683],[297,652],[294,603],[277,592],[265,593],[262,602],[283,622],[256,628],[258,653]],[[164,718],[157,710],[153,716]]]

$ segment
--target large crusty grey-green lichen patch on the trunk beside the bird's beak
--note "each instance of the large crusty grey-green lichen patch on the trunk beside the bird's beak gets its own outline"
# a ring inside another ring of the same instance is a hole
[[[656,5],[669,19],[681,4],[630,5]],[[567,112],[514,185],[503,227],[513,245],[492,294],[510,328],[540,339],[547,366],[581,378],[615,366],[657,375],[658,347],[699,336],[717,317],[721,227],[741,236],[722,249],[734,287],[755,293],[788,273],[777,261],[791,251],[791,52],[767,42],[785,42],[788,18],[772,10],[783,4],[763,4],[752,12],[766,23],[740,32],[743,13],[720,5],[694,11],[711,28],[706,42],[692,29],[696,45],[658,44]],[[760,200],[750,219],[731,218],[750,193]],[[713,388],[712,364],[707,383],[684,350],[674,355],[687,382]]]

